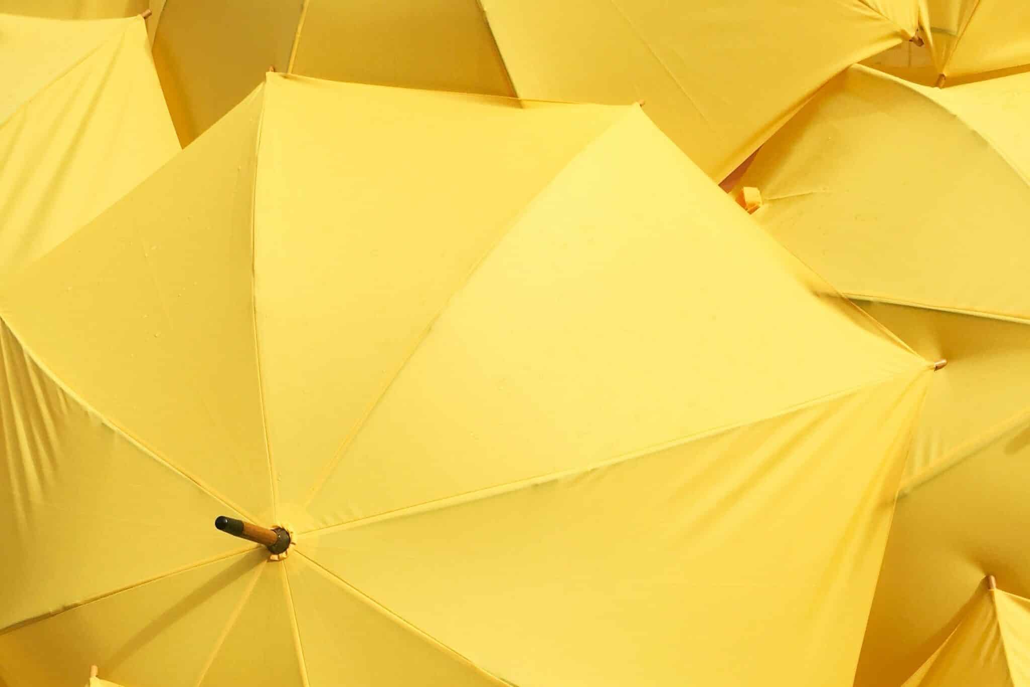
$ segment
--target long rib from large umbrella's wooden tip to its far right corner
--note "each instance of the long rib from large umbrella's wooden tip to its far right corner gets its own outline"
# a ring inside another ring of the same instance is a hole
[[[929,364],[927,364],[925,367],[920,367],[919,374],[928,373],[928,372],[930,372],[930,370],[931,370],[931,366]],[[594,472],[594,471],[597,471],[597,470],[605,470],[607,468],[610,468],[610,467],[613,467],[613,466],[616,466],[616,465],[619,465],[619,463],[622,463],[622,462],[627,462],[629,460],[636,460],[638,458],[646,458],[646,457],[648,457],[650,455],[653,455],[655,453],[658,453],[660,451],[665,451],[665,450],[668,450],[668,449],[677,448],[679,446],[690,444],[690,443],[695,442],[695,441],[700,441],[700,440],[708,439],[708,438],[711,438],[711,437],[714,437],[714,436],[717,436],[717,435],[720,435],[720,434],[724,434],[724,433],[727,433],[727,432],[732,432],[734,430],[739,430],[739,428],[744,427],[744,426],[748,426],[748,425],[751,425],[751,424],[757,424],[759,422],[765,422],[765,421],[775,419],[777,417],[783,417],[785,415],[790,415],[792,413],[800,412],[800,411],[806,410],[809,408],[813,408],[813,407],[820,406],[820,405],[827,404],[827,403],[832,403],[833,401],[836,401],[836,400],[839,400],[839,399],[844,399],[846,397],[853,396],[855,393],[859,393],[859,392],[861,392],[861,391],[863,391],[865,389],[868,389],[868,388],[871,388],[871,387],[874,387],[874,386],[879,386],[881,384],[886,384],[886,383],[888,383],[890,381],[893,381],[893,380],[897,379],[899,376],[900,375],[891,375],[889,377],[883,377],[883,378],[877,379],[874,381],[863,382],[863,383],[857,384],[857,385],[855,385],[855,386],[853,386],[851,388],[844,389],[842,391],[835,391],[833,393],[828,393],[828,394],[825,394],[825,396],[822,396],[822,397],[818,397],[816,399],[812,399],[812,400],[809,400],[809,401],[804,401],[804,402],[795,404],[793,406],[790,406],[788,408],[785,408],[785,409],[782,409],[782,410],[769,413],[767,415],[763,415],[761,417],[757,417],[757,418],[745,420],[745,421],[742,421],[742,422],[735,422],[735,423],[724,425],[724,426],[721,426],[721,427],[716,427],[716,428],[713,428],[713,430],[706,430],[703,432],[698,432],[698,433],[695,433],[695,434],[692,434],[692,435],[686,435],[684,437],[673,439],[671,441],[665,441],[665,442],[662,442],[660,444],[654,444],[654,445],[646,447],[644,449],[640,449],[640,450],[632,451],[632,452],[629,452],[629,453],[623,453],[623,454],[615,456],[613,458],[607,458],[605,460],[593,462],[593,463],[590,463],[590,465],[587,465],[587,466],[581,466],[581,467],[576,467],[576,468],[568,468],[565,470],[558,470],[558,471],[554,471],[554,472],[550,472],[550,473],[543,473],[543,474],[536,475],[536,476],[533,476],[533,477],[527,477],[527,478],[522,478],[522,479],[518,479],[518,480],[513,480],[511,482],[504,482],[504,483],[501,483],[501,484],[493,484],[493,485],[490,485],[490,486],[486,486],[486,487],[482,487],[482,488],[478,488],[478,489],[472,489],[470,491],[465,491],[465,492],[461,492],[461,493],[456,493],[456,494],[450,494],[450,495],[447,495],[447,496],[442,496],[440,499],[432,499],[430,501],[425,501],[425,502],[422,502],[422,503],[419,503],[419,504],[414,504],[412,506],[404,506],[402,508],[397,508],[397,509],[393,509],[393,510],[390,510],[390,511],[386,511],[386,512],[383,512],[383,513],[377,513],[375,515],[369,515],[369,516],[356,518],[354,520],[349,520],[349,521],[346,521],[346,522],[339,522],[339,523],[335,523],[335,524],[332,524],[332,525],[325,525],[325,526],[322,526],[322,527],[314,527],[312,529],[308,529],[306,531],[299,533],[298,535],[299,536],[301,536],[301,535],[308,536],[308,535],[314,535],[314,534],[322,534],[322,533],[332,531],[332,530],[351,529],[351,528],[359,527],[359,526],[364,526],[364,525],[375,524],[375,523],[378,523],[378,522],[382,522],[384,520],[392,520],[392,519],[396,519],[396,518],[402,518],[402,517],[406,517],[406,516],[410,516],[410,515],[418,515],[420,513],[425,513],[425,512],[441,510],[441,509],[450,508],[450,507],[453,507],[453,506],[459,506],[461,504],[467,504],[467,503],[474,502],[474,501],[480,501],[480,500],[483,500],[483,499],[489,499],[489,497],[492,497],[492,496],[497,496],[497,495],[503,495],[503,494],[506,494],[506,493],[510,493],[512,491],[517,491],[517,490],[520,490],[520,489],[525,489],[525,488],[529,488],[529,487],[534,487],[534,486],[539,486],[541,484],[546,484],[546,483],[549,483],[549,482],[555,482],[557,480],[564,479],[566,477],[573,477],[573,476],[576,476],[576,475],[584,475],[584,474],[587,474],[587,473],[590,473],[590,472]]]

